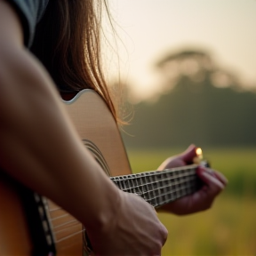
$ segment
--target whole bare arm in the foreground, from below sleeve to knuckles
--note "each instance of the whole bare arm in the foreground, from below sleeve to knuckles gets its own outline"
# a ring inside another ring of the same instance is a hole
[[[166,228],[140,196],[120,192],[84,148],[51,78],[23,49],[15,10],[2,0],[0,35],[1,169],[84,223],[95,254],[160,255]]]

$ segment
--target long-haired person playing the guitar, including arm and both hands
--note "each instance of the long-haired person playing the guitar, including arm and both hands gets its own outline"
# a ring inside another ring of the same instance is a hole
[[[80,220],[96,254],[160,255],[167,231],[156,212],[102,174],[56,90],[95,90],[118,121],[100,69],[100,16],[94,2],[100,1],[0,0],[1,168]],[[188,164],[195,150],[191,146],[167,159],[159,170]],[[204,168],[198,175],[204,188],[165,211],[188,214],[211,206],[227,181]]]

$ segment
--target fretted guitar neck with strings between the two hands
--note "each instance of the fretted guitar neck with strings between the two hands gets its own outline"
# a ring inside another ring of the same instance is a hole
[[[201,188],[202,181],[196,175],[197,167],[197,164],[191,164],[161,172],[140,172],[110,179],[121,190],[137,194],[157,208]]]

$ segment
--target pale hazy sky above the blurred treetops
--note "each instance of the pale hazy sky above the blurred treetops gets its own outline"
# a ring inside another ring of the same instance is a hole
[[[108,3],[119,36],[110,43],[113,51],[108,51],[108,74],[110,78],[121,76],[137,97],[146,98],[157,91],[156,61],[164,53],[185,48],[209,52],[220,67],[233,70],[247,86],[256,86],[256,0]]]

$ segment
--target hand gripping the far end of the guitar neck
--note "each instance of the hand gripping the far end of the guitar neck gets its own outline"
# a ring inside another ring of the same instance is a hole
[[[166,159],[164,163],[159,166],[158,170],[192,164],[195,156],[196,146],[190,145],[188,149],[180,155]],[[184,215],[211,208],[215,197],[226,187],[228,180],[220,172],[213,171],[203,166],[199,166],[196,172],[200,179],[204,181],[204,186],[194,194],[184,196],[177,201],[166,204],[159,210]]]

